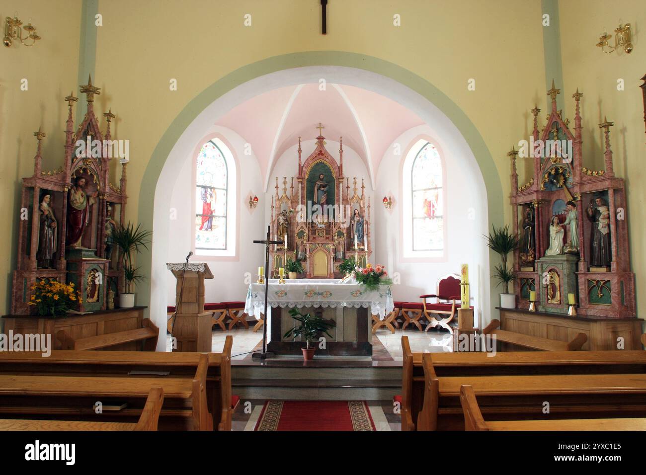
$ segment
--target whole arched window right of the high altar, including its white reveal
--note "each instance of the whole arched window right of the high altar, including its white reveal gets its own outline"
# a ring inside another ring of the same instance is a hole
[[[405,252],[409,256],[441,257],[444,253],[442,160],[437,148],[419,140],[404,165]],[[406,252],[407,251],[407,252]]]

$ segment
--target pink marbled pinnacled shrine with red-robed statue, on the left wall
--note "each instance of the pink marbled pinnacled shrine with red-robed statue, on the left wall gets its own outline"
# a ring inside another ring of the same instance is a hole
[[[89,78],[80,90],[86,94],[87,113],[76,132],[72,117],[78,98],[73,93],[65,98],[68,118],[61,167],[41,169],[46,134],[40,129],[34,133],[34,174],[22,183],[11,308],[15,315],[34,311],[28,302],[32,285],[40,280],[74,282],[82,297],[78,311],[110,308],[108,293],[116,293],[123,284],[112,231],[125,218],[127,159],[120,156],[120,141],[112,140],[112,111],[103,114],[105,132],[99,128],[94,96],[100,89]],[[109,181],[115,158],[121,162],[119,186]]]

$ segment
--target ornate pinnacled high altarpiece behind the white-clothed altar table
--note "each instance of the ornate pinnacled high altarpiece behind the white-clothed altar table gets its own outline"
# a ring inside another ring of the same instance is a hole
[[[339,264],[344,259],[354,257],[359,266],[365,266],[370,257],[370,198],[364,182],[357,187],[356,177],[350,182],[343,175],[342,138],[339,164],[324,140],[319,135],[314,151],[302,162],[299,137],[297,175],[289,182],[283,177],[282,189],[276,177],[271,233],[285,244],[271,251],[275,275],[288,259],[298,259],[305,270],[303,277],[333,279],[343,277]]]

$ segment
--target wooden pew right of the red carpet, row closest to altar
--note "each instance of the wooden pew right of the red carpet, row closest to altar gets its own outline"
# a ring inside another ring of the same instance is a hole
[[[402,337],[402,430],[415,430],[424,403],[422,353]],[[646,352],[483,352],[433,353],[433,370],[443,376],[646,374]]]

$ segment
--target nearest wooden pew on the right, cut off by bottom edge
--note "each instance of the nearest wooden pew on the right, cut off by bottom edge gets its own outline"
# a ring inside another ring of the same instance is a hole
[[[460,388],[464,430],[646,430],[646,418],[485,421],[473,386]]]

